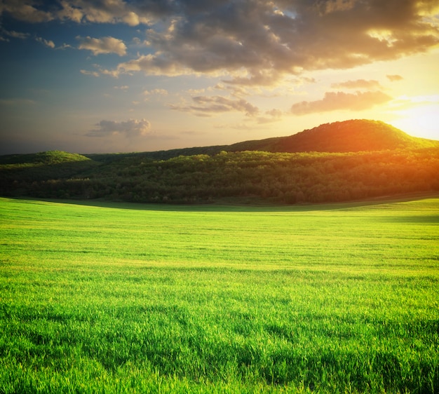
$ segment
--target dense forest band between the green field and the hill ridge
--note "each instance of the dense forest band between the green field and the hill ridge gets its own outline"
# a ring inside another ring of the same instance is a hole
[[[401,141],[404,136],[393,137]],[[209,154],[173,157],[168,151],[169,158],[154,152],[0,156],[0,193],[137,203],[295,204],[439,191],[439,147],[422,142],[341,152],[216,152],[208,147]]]

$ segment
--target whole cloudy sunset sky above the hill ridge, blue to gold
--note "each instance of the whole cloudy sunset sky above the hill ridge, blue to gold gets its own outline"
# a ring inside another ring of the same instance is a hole
[[[0,154],[357,118],[439,140],[438,0],[0,0]]]

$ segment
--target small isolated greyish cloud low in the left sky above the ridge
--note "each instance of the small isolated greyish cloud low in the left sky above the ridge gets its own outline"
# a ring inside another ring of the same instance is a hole
[[[125,135],[126,137],[144,137],[149,135],[151,123],[146,119],[128,119],[128,121],[100,121],[97,128],[90,130],[88,137],[108,137],[109,135]]]

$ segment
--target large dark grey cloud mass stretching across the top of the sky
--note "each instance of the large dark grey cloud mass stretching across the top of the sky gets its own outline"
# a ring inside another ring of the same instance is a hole
[[[4,0],[29,22],[126,23],[147,28],[147,53],[107,74],[211,74],[270,85],[285,74],[347,69],[439,43],[437,0],[62,0],[39,8]]]

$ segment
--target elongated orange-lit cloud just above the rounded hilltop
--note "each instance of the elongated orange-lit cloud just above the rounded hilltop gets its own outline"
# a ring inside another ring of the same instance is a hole
[[[379,90],[363,93],[327,92],[322,100],[302,101],[292,104],[291,112],[295,115],[306,115],[337,110],[361,111],[388,102],[391,99],[392,97]]]

